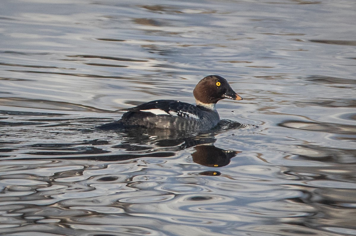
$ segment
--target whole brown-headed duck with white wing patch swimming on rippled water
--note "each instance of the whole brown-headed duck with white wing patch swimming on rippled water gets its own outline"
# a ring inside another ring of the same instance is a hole
[[[169,129],[203,131],[214,128],[220,120],[216,103],[221,99],[242,100],[226,81],[218,75],[201,79],[193,90],[196,105],[177,100],[160,99],[126,111],[121,119],[98,126],[101,130],[112,129]]]

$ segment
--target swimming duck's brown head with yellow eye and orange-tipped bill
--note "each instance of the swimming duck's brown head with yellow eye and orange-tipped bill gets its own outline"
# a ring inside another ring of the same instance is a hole
[[[201,79],[195,86],[193,94],[195,99],[206,104],[215,104],[224,98],[242,100],[242,97],[232,90],[226,79],[218,75],[209,75]]]

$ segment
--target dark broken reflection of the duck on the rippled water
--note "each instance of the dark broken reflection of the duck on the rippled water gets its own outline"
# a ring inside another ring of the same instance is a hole
[[[174,152],[194,147],[191,154],[193,161],[197,164],[208,167],[222,167],[230,163],[239,151],[224,150],[215,147],[215,135],[227,132],[228,130],[243,127],[242,124],[221,120],[219,125],[206,133],[180,133],[174,130],[145,130],[131,129],[125,130],[126,140],[111,148],[125,149],[126,151],[155,150],[159,152]],[[158,152],[158,153],[159,153]],[[157,152],[156,152],[157,154]],[[201,175],[219,175],[218,171],[204,171]],[[221,174],[221,173],[220,173]]]

